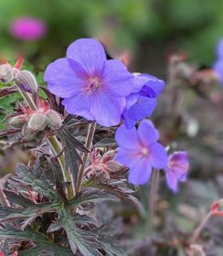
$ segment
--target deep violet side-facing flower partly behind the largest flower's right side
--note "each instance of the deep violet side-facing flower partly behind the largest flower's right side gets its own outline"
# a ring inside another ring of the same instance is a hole
[[[156,107],[157,97],[165,88],[165,82],[155,77],[142,74],[134,77],[135,82],[146,80],[143,88],[131,93],[127,98],[126,108],[122,112],[122,119],[128,129],[133,128],[138,120],[150,116]]]

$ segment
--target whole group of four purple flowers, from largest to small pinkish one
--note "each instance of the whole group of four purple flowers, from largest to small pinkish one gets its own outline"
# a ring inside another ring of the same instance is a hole
[[[44,79],[48,90],[63,98],[67,112],[103,126],[124,123],[115,134],[119,144],[116,159],[130,167],[130,183],[145,184],[153,168],[165,169],[167,185],[174,191],[178,181],[186,180],[186,153],[170,155],[168,161],[165,147],[157,142],[154,124],[143,120],[135,128],[154,112],[157,97],[165,88],[163,80],[132,74],[122,61],[108,60],[95,39],[72,43],[66,58],[48,65]]]

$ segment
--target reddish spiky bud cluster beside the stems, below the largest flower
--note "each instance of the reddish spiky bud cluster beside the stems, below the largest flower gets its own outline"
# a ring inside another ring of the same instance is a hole
[[[100,151],[94,149],[90,153],[90,167],[87,169],[86,176],[88,178],[95,177],[100,180],[110,180],[117,174],[123,175],[128,171],[126,166],[120,165],[115,159],[115,151],[111,150],[104,155],[100,155]]]

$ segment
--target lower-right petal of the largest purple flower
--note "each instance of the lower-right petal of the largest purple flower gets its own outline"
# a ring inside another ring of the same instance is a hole
[[[124,98],[114,98],[104,91],[91,95],[90,113],[97,123],[108,127],[121,122],[121,115],[126,104]]]

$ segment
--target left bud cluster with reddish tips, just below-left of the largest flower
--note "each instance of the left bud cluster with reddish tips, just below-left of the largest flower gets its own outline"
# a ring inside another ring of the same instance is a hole
[[[21,128],[27,139],[32,139],[46,127],[57,130],[62,125],[62,116],[50,109],[48,101],[37,97],[37,110],[19,105],[19,112],[12,117],[9,124],[13,128]]]

